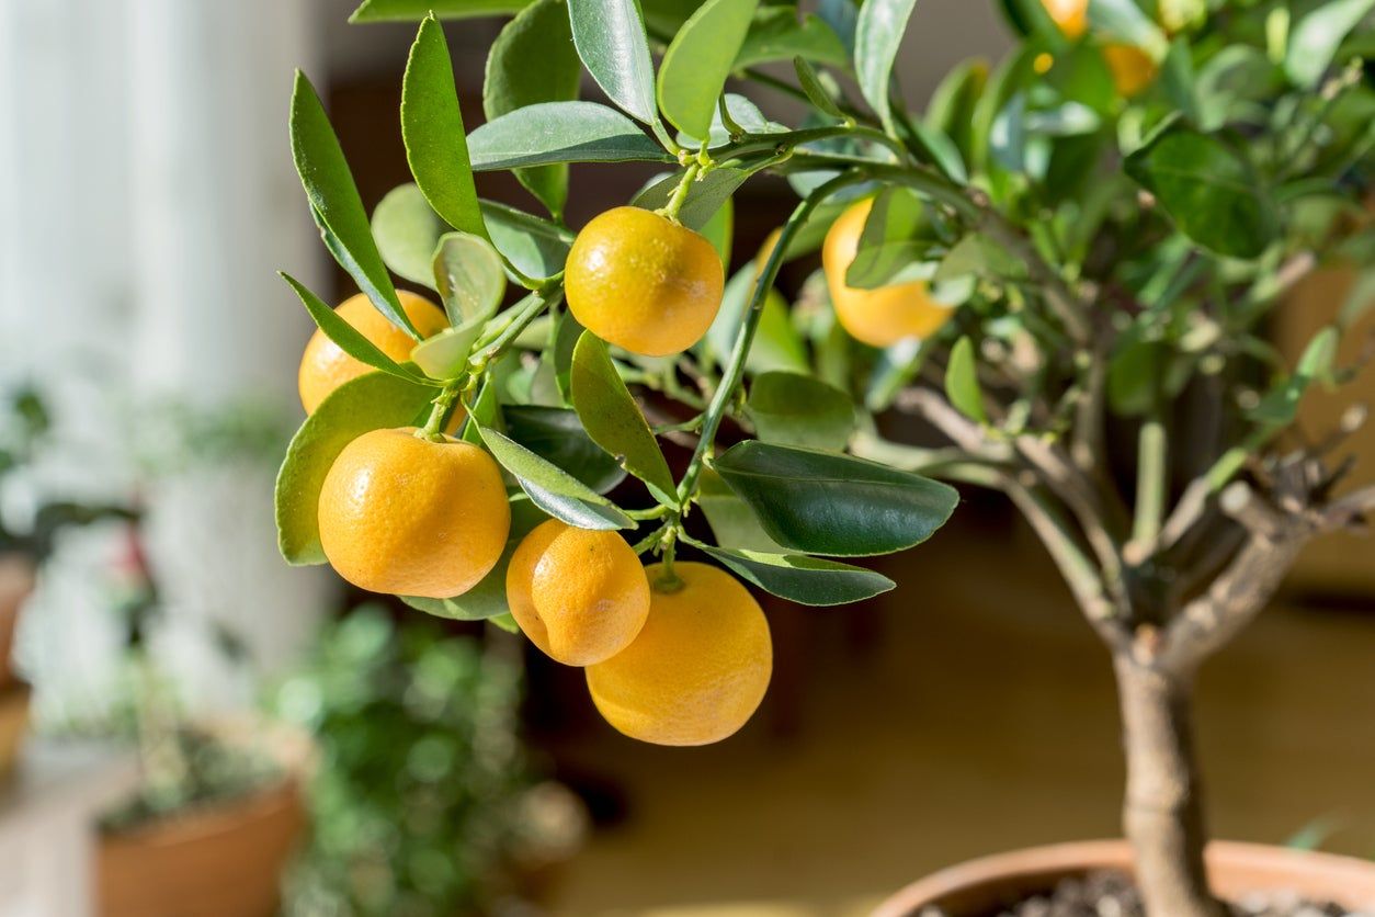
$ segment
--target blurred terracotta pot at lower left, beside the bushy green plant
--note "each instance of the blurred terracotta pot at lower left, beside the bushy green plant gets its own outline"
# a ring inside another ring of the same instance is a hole
[[[100,840],[103,917],[272,917],[305,826],[298,782]]]

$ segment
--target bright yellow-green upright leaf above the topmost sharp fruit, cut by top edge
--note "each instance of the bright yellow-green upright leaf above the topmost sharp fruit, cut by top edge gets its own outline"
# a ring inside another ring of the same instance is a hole
[[[744,44],[758,0],[707,0],[674,36],[659,66],[659,107],[679,131],[711,132],[716,100]]]

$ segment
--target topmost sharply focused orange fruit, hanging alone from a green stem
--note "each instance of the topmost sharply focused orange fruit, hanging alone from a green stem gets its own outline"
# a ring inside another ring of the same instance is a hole
[[[573,318],[604,341],[645,356],[681,353],[700,341],[725,283],[711,242],[630,206],[584,225],[564,268]]]

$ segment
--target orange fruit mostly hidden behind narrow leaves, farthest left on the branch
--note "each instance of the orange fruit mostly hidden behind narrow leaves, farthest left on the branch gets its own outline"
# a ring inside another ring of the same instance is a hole
[[[425,297],[407,293],[406,290],[397,290],[396,296],[402,301],[402,308],[406,309],[411,324],[421,333],[421,337],[429,337],[448,327],[444,309]],[[415,346],[415,341],[410,334],[392,324],[385,315],[378,312],[367,296],[362,293],[351,296],[334,312],[358,329],[363,337],[375,344],[377,349],[397,363],[403,363],[411,357],[411,348]],[[305,408],[307,414],[314,414],[315,408],[320,406],[320,401],[330,392],[349,379],[356,379],[371,371],[373,367],[355,360],[341,351],[338,344],[329,340],[324,331],[316,329],[305,345],[305,353],[301,355],[301,371],[297,375],[301,407]]]

